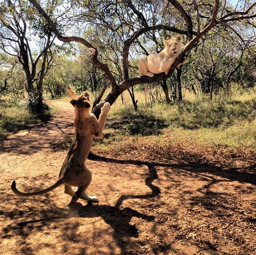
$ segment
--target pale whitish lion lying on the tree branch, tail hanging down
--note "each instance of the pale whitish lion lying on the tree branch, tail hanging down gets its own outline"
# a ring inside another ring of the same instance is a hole
[[[164,40],[165,48],[160,53],[150,54],[145,58],[141,58],[139,62],[139,72],[142,76],[153,77],[155,74],[165,73],[168,74],[172,64],[181,52],[182,37],[177,35],[169,40]],[[178,66],[184,64],[185,58]],[[145,84],[145,104],[144,109],[147,108],[147,91],[148,84]]]

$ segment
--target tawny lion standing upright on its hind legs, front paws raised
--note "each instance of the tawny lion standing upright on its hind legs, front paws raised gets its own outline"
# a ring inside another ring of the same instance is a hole
[[[64,192],[72,197],[72,202],[77,202],[79,198],[98,202],[98,197],[89,196],[85,193],[92,181],[92,173],[85,166],[84,162],[89,155],[92,138],[103,137],[102,131],[111,107],[109,103],[105,103],[101,108],[99,120],[97,120],[95,115],[90,113],[92,106],[87,92],[83,92],[78,97],[69,86],[67,86],[67,91],[71,95],[72,100],[70,103],[74,106],[75,134],[71,148],[59,173],[59,179],[55,184],[46,189],[28,193],[18,191],[16,189],[16,182],[13,181],[11,189],[16,195],[22,197],[41,195],[63,184],[65,185]],[[71,186],[78,187],[77,191],[74,191]]]

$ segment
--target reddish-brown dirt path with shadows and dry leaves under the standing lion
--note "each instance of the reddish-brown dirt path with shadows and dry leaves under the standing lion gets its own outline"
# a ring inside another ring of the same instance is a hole
[[[42,196],[13,195],[49,186],[66,152],[50,143],[73,133],[73,108],[47,124],[11,135],[0,154],[0,254],[256,254],[255,176],[203,164],[87,160],[90,195],[69,207],[63,187]],[[179,152],[182,154],[182,150]],[[80,202],[80,203],[79,203]]]

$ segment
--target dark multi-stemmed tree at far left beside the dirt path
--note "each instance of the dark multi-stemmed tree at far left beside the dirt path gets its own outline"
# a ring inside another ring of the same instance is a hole
[[[24,0],[4,0],[0,5],[0,49],[16,57],[26,75],[29,109],[41,116],[43,80],[53,65],[55,36],[50,26]]]

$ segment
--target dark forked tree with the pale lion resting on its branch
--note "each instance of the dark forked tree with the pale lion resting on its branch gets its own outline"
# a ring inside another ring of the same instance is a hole
[[[117,82],[108,64],[103,63],[100,58],[98,58],[99,54],[95,45],[82,37],[63,36],[61,31],[63,21],[60,19],[57,21],[56,17],[50,15],[51,13],[47,13],[45,6],[43,4],[40,5],[36,0],[29,0],[29,2],[32,3],[46,19],[59,40],[63,42],[80,42],[87,48],[95,49],[95,55],[92,55],[91,60],[97,68],[105,73],[106,78],[111,84],[111,92],[105,98],[105,101],[109,102],[111,105],[122,92],[133,85],[153,83],[168,79],[174,73],[178,63],[185,57],[185,54],[196,47],[201,39],[215,27],[222,27],[226,24],[229,24],[229,26],[232,27],[232,24],[236,24],[237,22],[248,21],[251,23],[253,22],[253,18],[256,17],[256,14],[253,13],[253,8],[256,3],[250,4],[249,1],[244,1],[242,6],[235,8],[231,5],[228,6],[226,1],[220,3],[219,0],[199,4],[196,0],[193,1],[193,4],[186,2],[180,4],[176,0],[162,1],[162,7],[161,10],[158,11],[159,15],[156,17],[156,20],[152,19],[153,15],[151,11],[153,9],[151,7],[155,5],[155,1],[134,1],[133,3],[130,0],[120,2],[93,1],[86,3],[82,1],[81,8],[75,9],[71,6],[64,8],[65,10],[72,9],[69,14],[67,14],[67,11],[63,12],[63,16],[66,17],[69,15],[69,22],[74,19],[76,21],[84,22],[85,19],[87,20],[87,24],[97,24],[98,31],[105,27],[108,32],[116,35],[115,38],[120,38],[120,42],[124,42],[122,44],[121,53],[122,81]],[[64,4],[65,6],[65,3],[62,1],[59,1],[59,4]],[[77,13],[75,13],[76,11]],[[175,18],[166,21],[168,20],[166,16],[168,17],[173,13],[175,13],[174,17],[179,15],[179,22],[182,22],[180,23],[179,28],[173,26]],[[59,13],[58,17],[60,17]],[[164,21],[164,24],[162,24],[162,21]],[[250,24],[248,22],[246,25],[249,26]],[[132,47],[136,47],[136,42],[139,40],[140,36],[148,33],[152,36],[152,39],[154,39],[154,33],[152,32],[159,30],[175,32],[185,36],[187,38],[187,44],[183,48],[182,53],[180,53],[167,75],[158,74],[152,78],[131,78],[129,74],[129,56],[130,58],[133,58]],[[101,105],[98,105],[98,107],[93,109],[93,112],[96,113],[97,116],[100,112],[100,106]]]

